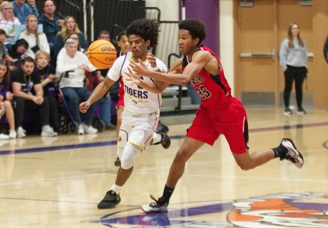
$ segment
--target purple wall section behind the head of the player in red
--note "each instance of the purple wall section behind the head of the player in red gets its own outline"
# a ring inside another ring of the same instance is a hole
[[[219,36],[220,0],[185,0],[185,18],[198,18],[205,24],[206,38],[203,45],[220,53]]]

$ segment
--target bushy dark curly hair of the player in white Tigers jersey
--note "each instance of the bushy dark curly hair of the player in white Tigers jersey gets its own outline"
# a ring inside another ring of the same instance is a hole
[[[137,35],[143,40],[150,40],[148,48],[152,48],[158,43],[158,33],[160,32],[160,24],[155,19],[137,19],[126,27],[126,35]]]

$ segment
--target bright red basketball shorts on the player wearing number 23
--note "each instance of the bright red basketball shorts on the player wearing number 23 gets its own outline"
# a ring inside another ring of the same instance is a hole
[[[213,146],[223,134],[233,153],[245,153],[248,147],[247,114],[239,99],[233,97],[230,104],[198,109],[186,137]]]

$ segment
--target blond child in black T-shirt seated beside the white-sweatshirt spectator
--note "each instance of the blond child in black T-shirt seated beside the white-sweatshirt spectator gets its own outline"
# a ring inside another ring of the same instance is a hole
[[[58,108],[57,100],[50,91],[54,88],[53,81],[55,80],[56,70],[52,65],[49,65],[50,55],[44,50],[36,52],[36,70],[39,71],[41,77],[41,86],[43,87],[43,97],[48,98],[49,102],[49,121],[53,129],[58,129]]]

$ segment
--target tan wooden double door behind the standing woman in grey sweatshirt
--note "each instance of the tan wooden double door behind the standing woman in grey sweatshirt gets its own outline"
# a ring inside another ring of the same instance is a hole
[[[279,50],[287,37],[289,23],[299,24],[300,35],[310,53],[312,50],[312,6],[297,0],[258,0],[251,4],[240,1],[239,15],[239,80],[240,97],[245,106],[282,107],[285,77],[279,64]],[[311,82],[304,82],[304,107],[313,106]],[[291,105],[295,103],[294,92]]]

